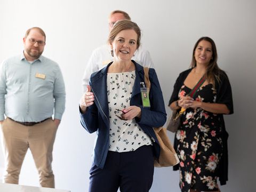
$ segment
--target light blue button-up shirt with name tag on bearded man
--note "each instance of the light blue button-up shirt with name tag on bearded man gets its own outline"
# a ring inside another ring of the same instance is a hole
[[[0,71],[0,121],[61,119],[65,110],[65,84],[58,64],[42,55],[32,63],[24,54],[2,63]]]

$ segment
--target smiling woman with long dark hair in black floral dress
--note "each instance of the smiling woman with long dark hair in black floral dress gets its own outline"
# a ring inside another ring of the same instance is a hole
[[[231,86],[217,65],[217,49],[210,37],[194,46],[191,68],[183,71],[169,101],[172,110],[186,109],[175,133],[181,191],[220,191],[227,181],[227,137],[223,114],[233,113]],[[201,81],[191,96],[191,90]]]

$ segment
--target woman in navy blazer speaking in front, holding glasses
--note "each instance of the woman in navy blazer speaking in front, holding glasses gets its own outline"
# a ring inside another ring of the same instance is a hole
[[[136,23],[116,22],[108,43],[114,61],[91,75],[79,103],[83,127],[97,131],[89,191],[149,191],[160,150],[153,127],[166,121],[161,87],[150,68],[150,107],[143,107],[143,67],[131,60],[140,46]]]

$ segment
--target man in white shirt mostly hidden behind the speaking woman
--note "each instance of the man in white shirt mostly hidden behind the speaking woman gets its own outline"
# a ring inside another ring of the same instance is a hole
[[[127,14],[126,12],[120,10],[115,10],[111,12],[108,18],[109,31],[113,28],[116,21],[124,19],[131,20],[129,14]],[[132,59],[144,67],[154,67],[149,52],[141,48],[141,46],[134,53]],[[111,56],[111,49],[107,44],[98,47],[92,52],[92,55],[84,71],[82,82],[83,92],[87,91],[87,85],[89,85],[89,79],[91,77],[91,74],[107,66],[107,64],[111,61],[113,61],[113,57]]]

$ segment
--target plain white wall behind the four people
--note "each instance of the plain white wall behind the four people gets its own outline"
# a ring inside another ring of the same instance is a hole
[[[79,123],[81,79],[92,50],[107,40],[108,14],[128,12],[142,30],[167,102],[178,74],[189,67],[195,42],[210,36],[217,44],[219,66],[229,76],[235,114],[225,116],[229,144],[229,181],[222,191],[255,191],[256,2],[253,0],[67,1],[1,0],[0,62],[23,49],[22,37],[34,26],[46,33],[44,55],[57,61],[66,82],[67,103],[54,145],[56,187],[87,191],[94,135]],[[166,107],[167,113],[170,110]],[[173,140],[174,134],[170,133]],[[4,166],[0,152],[0,167]],[[1,169],[0,169],[1,170]],[[1,174],[0,174],[1,175]],[[155,169],[150,191],[179,191],[178,172]],[[20,184],[38,186],[28,153]]]

